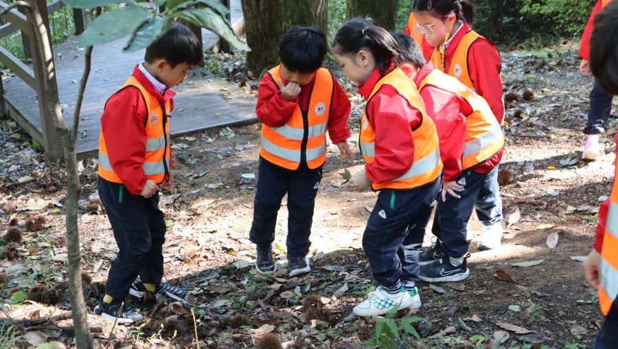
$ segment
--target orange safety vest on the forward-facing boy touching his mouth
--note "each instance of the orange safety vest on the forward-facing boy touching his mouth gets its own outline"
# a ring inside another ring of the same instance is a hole
[[[280,66],[268,71],[279,86]],[[267,161],[296,170],[304,154],[308,168],[319,168],[326,161],[326,130],[334,82],[330,71],[320,68],[315,72],[308,109],[297,105],[292,117],[281,127],[262,124],[260,156]],[[281,86],[279,86],[281,88]]]

